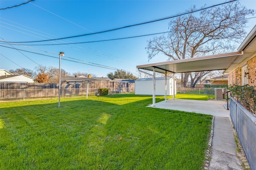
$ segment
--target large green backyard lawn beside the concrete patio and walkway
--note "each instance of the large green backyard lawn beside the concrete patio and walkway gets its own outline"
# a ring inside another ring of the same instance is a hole
[[[150,103],[134,94],[62,98],[61,108],[0,103],[0,169],[202,169],[212,116]]]

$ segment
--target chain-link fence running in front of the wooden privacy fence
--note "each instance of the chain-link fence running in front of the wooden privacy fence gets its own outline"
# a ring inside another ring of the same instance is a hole
[[[60,97],[84,96],[86,88],[62,88]],[[88,96],[94,96],[98,88],[88,88]],[[109,93],[134,93],[134,88],[108,88]],[[40,98],[56,98],[59,96],[58,88],[51,89],[4,89],[0,90],[0,101],[31,100]]]

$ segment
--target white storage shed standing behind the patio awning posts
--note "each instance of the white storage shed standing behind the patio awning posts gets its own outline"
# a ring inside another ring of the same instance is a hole
[[[153,81],[152,78],[140,78],[135,80],[135,94],[137,95],[152,95],[153,94]],[[173,96],[173,88],[175,88],[176,94],[176,80],[175,86],[173,84],[173,78],[167,77],[167,96]],[[156,77],[156,96],[164,96],[165,93],[165,78]]]

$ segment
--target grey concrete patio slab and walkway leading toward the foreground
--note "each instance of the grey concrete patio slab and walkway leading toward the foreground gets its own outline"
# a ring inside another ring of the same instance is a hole
[[[236,143],[230,122],[229,110],[224,108],[225,101],[169,99],[156,103],[156,108],[173,109],[214,115],[212,155],[208,170],[243,170],[236,157]],[[152,106],[149,106],[152,107]]]

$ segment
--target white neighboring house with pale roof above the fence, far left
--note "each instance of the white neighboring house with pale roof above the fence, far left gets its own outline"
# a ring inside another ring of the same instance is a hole
[[[22,75],[13,75],[7,70],[0,70],[0,82],[16,82],[16,83],[34,83],[34,78],[30,76]]]

